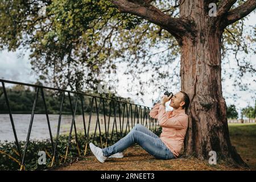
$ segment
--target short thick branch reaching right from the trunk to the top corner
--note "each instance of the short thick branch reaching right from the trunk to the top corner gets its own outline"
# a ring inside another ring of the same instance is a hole
[[[241,6],[238,6],[236,9],[228,11],[224,18],[225,26],[232,24],[243,17],[250,14],[253,10],[256,9],[256,1],[255,0],[248,0],[243,3]]]

